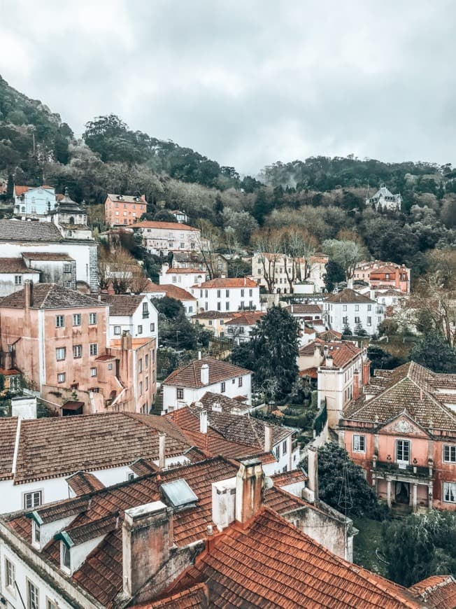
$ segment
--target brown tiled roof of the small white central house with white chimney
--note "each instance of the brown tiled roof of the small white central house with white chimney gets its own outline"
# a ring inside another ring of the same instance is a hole
[[[179,387],[200,388],[204,387],[201,383],[201,366],[207,364],[209,367],[209,385],[241,377],[243,374],[251,374],[250,370],[240,368],[229,362],[217,360],[215,358],[202,358],[194,360],[183,368],[178,368],[164,379],[164,385],[176,385]]]

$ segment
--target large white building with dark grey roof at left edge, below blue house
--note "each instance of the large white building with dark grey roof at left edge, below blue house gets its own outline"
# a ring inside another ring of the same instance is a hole
[[[27,255],[34,254],[27,258]],[[19,220],[0,220],[0,258],[24,258],[26,265],[35,268],[38,254],[49,255],[50,263],[43,270],[43,280],[66,285],[73,282],[73,265],[76,262],[76,287],[90,292],[98,291],[98,246],[94,239],[63,237],[53,223]],[[52,258],[52,255],[65,255],[65,258]],[[57,262],[54,263],[54,261]],[[48,273],[48,274],[46,274]]]

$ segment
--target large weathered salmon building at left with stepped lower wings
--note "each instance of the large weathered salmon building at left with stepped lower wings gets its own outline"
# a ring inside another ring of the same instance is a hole
[[[26,281],[0,299],[0,365],[20,370],[62,415],[148,412],[155,398],[155,338],[134,344],[124,332],[111,345],[108,315],[108,306],[90,296]]]

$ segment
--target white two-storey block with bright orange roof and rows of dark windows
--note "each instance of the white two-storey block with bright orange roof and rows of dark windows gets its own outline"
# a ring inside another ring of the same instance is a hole
[[[259,310],[259,286],[248,277],[210,279],[192,287],[203,311]]]

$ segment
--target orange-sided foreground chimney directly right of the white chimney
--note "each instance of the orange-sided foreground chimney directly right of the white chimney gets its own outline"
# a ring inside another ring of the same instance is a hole
[[[259,459],[241,461],[236,475],[236,520],[241,524],[247,523],[262,507],[263,478]]]

